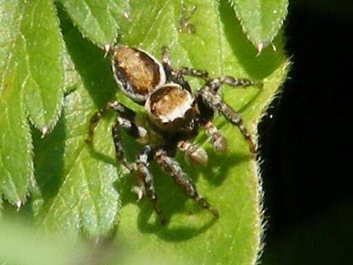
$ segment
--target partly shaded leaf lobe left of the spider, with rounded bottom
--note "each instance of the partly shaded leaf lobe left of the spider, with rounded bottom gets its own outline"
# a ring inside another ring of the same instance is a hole
[[[106,163],[107,159],[97,155],[84,140],[90,116],[97,105],[112,99],[115,85],[100,50],[80,40],[77,31],[65,35],[65,41],[77,69],[77,76],[72,78],[79,79],[74,84],[76,89],[65,97],[63,115],[52,134],[46,139],[35,137],[36,179],[45,200],[39,215],[50,230],[83,230],[91,237],[99,236],[117,222],[119,195],[112,184],[118,175],[115,165]],[[97,92],[99,95],[94,95]],[[102,124],[105,126],[97,130],[95,148],[114,157],[108,121]]]

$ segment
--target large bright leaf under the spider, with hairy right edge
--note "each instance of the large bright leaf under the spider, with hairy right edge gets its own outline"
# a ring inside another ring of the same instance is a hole
[[[263,90],[228,87],[222,90],[225,101],[241,113],[245,126],[256,134],[256,126],[287,72],[281,38],[274,40],[276,52],[265,50],[256,57],[226,1],[183,2],[186,10],[197,7],[188,21],[194,24],[194,34],[181,28],[180,1],[128,1],[130,19],[121,15],[123,10],[115,16],[119,21],[119,42],[143,48],[157,58],[161,46],[169,46],[174,67],[205,69],[212,77],[232,75],[263,81]],[[194,89],[199,84],[192,80]],[[259,165],[249,155],[237,128],[222,117],[215,123],[228,138],[228,155],[214,153],[201,133],[196,141],[208,151],[208,166],[197,169],[188,166],[181,155],[178,160],[196,182],[201,195],[219,210],[220,218],[212,222],[207,211],[195,206],[154,165],[159,204],[170,222],[165,227],[154,222],[148,199],[136,203],[130,193],[132,181],[123,181],[117,236],[131,241],[131,260],[124,264],[134,264],[139,257],[150,253],[161,260],[167,255],[177,264],[255,264],[262,235]]]

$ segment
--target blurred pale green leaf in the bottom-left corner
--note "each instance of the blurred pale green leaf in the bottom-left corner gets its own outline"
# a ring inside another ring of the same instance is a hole
[[[0,233],[0,264],[4,265],[78,264],[87,254],[87,246],[78,244],[71,235],[48,237],[28,220],[23,222],[14,216],[0,220]]]

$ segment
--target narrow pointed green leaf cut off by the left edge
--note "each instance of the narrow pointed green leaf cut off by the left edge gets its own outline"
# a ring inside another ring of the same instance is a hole
[[[0,97],[0,193],[11,204],[21,206],[33,174],[32,139],[27,123],[21,77],[14,61],[3,77]]]

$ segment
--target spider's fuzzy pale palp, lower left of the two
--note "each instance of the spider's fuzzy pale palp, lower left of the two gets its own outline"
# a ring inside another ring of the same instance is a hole
[[[208,161],[208,155],[198,144],[191,144],[190,141],[180,140],[177,147],[185,156],[185,160],[194,166],[205,166]]]

